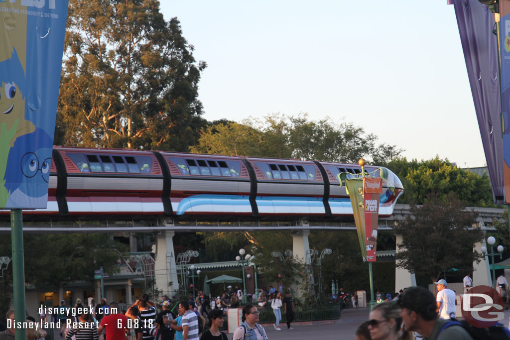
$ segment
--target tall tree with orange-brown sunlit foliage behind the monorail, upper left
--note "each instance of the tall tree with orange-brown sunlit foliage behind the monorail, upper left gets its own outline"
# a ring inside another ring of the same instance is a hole
[[[157,0],[70,0],[55,143],[187,151],[205,123],[192,52]]]

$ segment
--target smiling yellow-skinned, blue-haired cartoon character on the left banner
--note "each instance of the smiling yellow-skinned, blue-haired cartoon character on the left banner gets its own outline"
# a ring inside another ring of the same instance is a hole
[[[35,125],[25,119],[25,74],[16,49],[10,59],[0,62],[0,207],[6,206],[9,191],[6,180],[19,168],[7,170],[7,158],[20,136],[33,133]]]

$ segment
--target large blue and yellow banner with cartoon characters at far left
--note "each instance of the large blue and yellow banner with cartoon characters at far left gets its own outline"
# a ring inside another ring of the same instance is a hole
[[[46,208],[68,0],[0,0],[0,209]]]

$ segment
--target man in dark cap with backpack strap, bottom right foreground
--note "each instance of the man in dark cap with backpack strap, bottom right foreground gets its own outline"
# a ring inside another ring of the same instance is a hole
[[[449,320],[438,318],[435,300],[423,287],[406,289],[397,300],[404,330],[418,332],[428,340],[473,340],[462,326],[453,325],[441,331]]]

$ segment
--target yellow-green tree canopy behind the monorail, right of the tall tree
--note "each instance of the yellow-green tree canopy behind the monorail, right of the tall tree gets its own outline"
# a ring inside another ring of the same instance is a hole
[[[190,151],[339,163],[357,163],[363,157],[377,164],[389,162],[402,150],[377,144],[375,135],[352,123],[311,120],[308,114],[273,114],[263,120],[251,118],[204,127]]]

